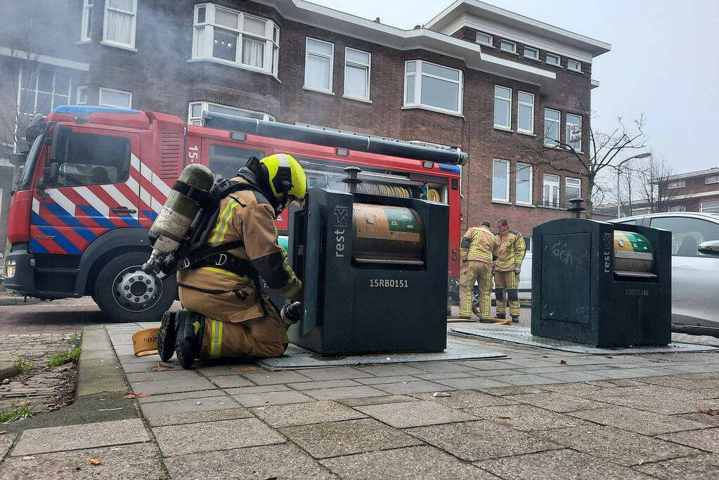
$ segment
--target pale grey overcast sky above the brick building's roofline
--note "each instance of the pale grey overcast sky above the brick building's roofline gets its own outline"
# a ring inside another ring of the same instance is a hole
[[[453,0],[311,0],[384,24],[411,29]],[[540,22],[595,38],[612,50],[594,59],[594,129],[616,118],[646,116],[654,153],[675,172],[719,167],[717,0],[487,0]]]

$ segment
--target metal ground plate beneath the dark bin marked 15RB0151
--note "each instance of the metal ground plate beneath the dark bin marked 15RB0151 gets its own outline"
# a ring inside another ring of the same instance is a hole
[[[290,343],[285,354],[274,359],[261,359],[257,364],[268,370],[308,369],[323,366],[352,366],[367,364],[401,364],[411,361],[490,360],[506,358],[500,351],[447,340],[445,351],[418,354],[369,354],[350,356],[321,356]]]

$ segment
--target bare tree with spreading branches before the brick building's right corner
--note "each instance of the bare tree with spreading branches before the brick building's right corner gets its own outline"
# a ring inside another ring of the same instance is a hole
[[[597,175],[606,167],[613,167],[613,163],[623,160],[628,153],[646,147],[645,119],[644,115],[641,115],[631,124],[627,124],[618,117],[615,129],[611,133],[605,133],[590,128],[594,116],[579,100],[577,100],[577,109],[582,116],[582,127],[580,131],[575,132],[578,139],[572,141],[572,138],[569,138],[561,142],[544,137],[543,133],[539,139],[521,139],[518,142],[521,155],[532,165],[550,165],[559,172],[568,172],[587,179],[584,192],[585,208],[587,218],[592,218],[595,201],[603,197],[597,195],[597,190],[602,190],[602,185],[597,183]],[[587,148],[588,151],[583,153],[582,148]]]

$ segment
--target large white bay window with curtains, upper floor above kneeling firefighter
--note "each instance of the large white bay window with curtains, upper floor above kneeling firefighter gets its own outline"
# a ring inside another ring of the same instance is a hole
[[[193,60],[214,60],[277,76],[280,29],[272,21],[221,8],[195,6]]]

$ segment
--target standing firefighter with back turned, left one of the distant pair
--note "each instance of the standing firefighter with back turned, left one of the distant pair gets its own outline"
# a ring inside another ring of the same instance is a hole
[[[459,258],[462,260],[462,272],[459,274],[459,317],[472,318],[472,290],[479,283],[480,303],[478,313],[480,322],[492,316],[492,267],[493,252],[497,239],[490,231],[490,223],[482,221],[479,228],[472,226],[462,237],[459,245]]]

